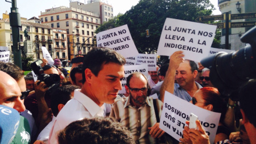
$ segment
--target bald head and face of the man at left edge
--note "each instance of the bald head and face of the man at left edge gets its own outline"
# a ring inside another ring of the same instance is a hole
[[[0,71],[0,105],[4,105],[22,112],[25,106],[21,101],[20,87],[10,75]]]

